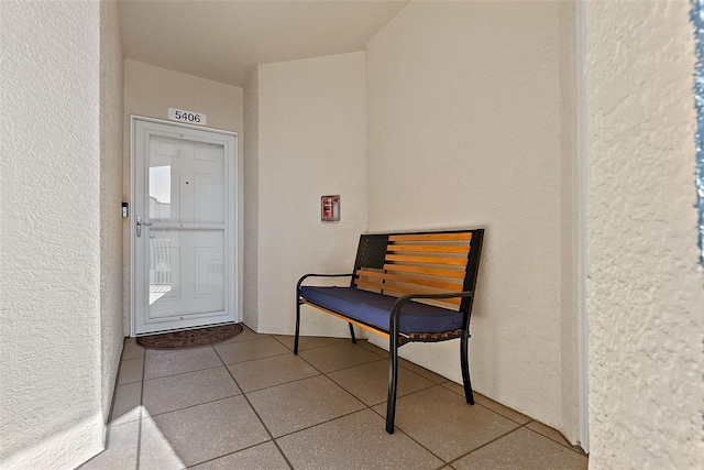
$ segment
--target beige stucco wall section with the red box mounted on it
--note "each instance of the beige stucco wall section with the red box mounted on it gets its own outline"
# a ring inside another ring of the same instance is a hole
[[[258,330],[293,334],[302,274],[352,270],[366,230],[364,52],[258,66]],[[339,222],[320,197],[341,196]],[[349,280],[343,280],[349,282]],[[308,309],[306,335],[349,336]]]

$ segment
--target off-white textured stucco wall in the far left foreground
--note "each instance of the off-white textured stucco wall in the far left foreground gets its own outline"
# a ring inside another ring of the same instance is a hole
[[[102,448],[100,4],[2,2],[0,467]]]

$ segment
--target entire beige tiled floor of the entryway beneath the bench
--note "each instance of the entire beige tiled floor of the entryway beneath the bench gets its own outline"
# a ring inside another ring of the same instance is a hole
[[[361,340],[244,329],[230,341],[122,353],[108,448],[82,469],[586,469],[540,423],[402,360],[384,430],[386,352]]]

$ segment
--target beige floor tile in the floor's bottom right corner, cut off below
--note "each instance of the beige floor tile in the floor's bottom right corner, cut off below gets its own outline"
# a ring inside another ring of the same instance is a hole
[[[586,470],[587,459],[526,428],[520,428],[452,464],[457,470]]]

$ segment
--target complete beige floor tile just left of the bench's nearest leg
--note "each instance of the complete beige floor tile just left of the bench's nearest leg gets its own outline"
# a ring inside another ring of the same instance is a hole
[[[319,375],[246,394],[274,437],[355,412],[364,405]]]

